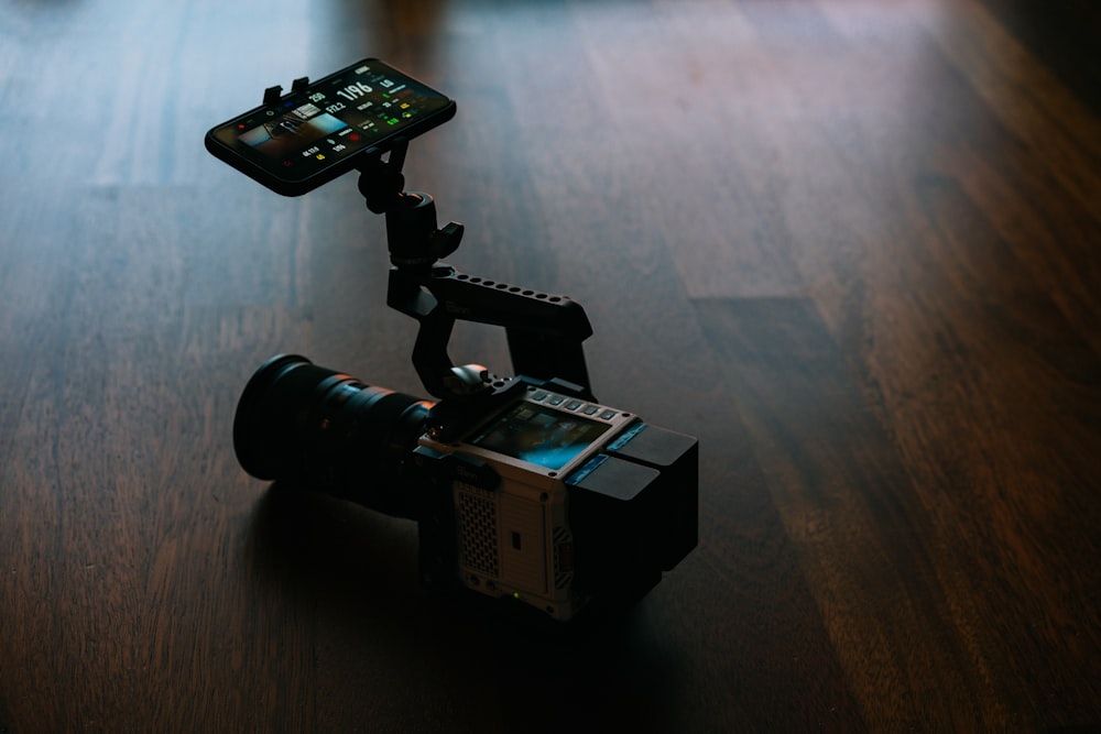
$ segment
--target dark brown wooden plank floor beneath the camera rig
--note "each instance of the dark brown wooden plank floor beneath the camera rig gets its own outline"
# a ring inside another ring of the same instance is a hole
[[[0,4],[0,732],[1098,731],[1099,36],[1087,0]],[[355,178],[203,147],[368,55],[458,101],[406,165],[449,261],[579,300],[597,396],[699,437],[698,548],[596,634],[440,599],[414,524],[235,458],[276,352],[422,394]]]

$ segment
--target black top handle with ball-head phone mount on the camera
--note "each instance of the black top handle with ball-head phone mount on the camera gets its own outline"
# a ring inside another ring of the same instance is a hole
[[[456,320],[504,327],[517,375],[553,381],[558,390],[595,399],[581,349],[592,335],[585,309],[566,296],[467,275],[438,262],[458,249],[462,224],[437,228],[432,197],[403,190],[407,150],[408,141],[401,140],[385,161],[381,153],[368,155],[359,166],[359,190],[368,209],[386,217],[392,264],[386,304],[421,325],[413,366],[425,390],[443,401],[436,428],[451,423],[451,412],[484,415],[484,404],[522,388],[520,381],[495,377],[480,365],[451,363],[447,343]]]

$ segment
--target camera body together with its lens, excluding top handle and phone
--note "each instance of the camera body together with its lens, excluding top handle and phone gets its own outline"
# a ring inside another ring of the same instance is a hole
[[[558,621],[641,598],[696,546],[695,438],[569,383],[487,379],[501,397],[479,415],[279,355],[244,390],[235,448],[254,476],[416,521],[427,585]]]

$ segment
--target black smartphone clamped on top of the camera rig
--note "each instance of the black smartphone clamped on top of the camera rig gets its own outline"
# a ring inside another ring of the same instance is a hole
[[[445,95],[364,58],[215,125],[205,142],[273,191],[301,196],[453,117],[455,102]]]

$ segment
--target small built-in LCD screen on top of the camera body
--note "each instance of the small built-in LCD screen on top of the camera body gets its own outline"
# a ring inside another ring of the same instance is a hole
[[[557,471],[609,426],[533,403],[521,403],[469,439],[470,443]]]

